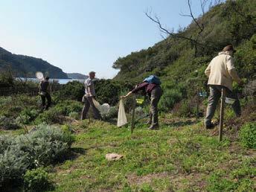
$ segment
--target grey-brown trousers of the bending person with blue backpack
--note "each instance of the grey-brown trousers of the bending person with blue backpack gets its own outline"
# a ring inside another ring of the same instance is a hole
[[[158,104],[159,100],[162,95],[162,90],[160,86],[157,86],[151,92],[150,97],[150,124],[151,126],[158,126],[159,125],[159,110]]]

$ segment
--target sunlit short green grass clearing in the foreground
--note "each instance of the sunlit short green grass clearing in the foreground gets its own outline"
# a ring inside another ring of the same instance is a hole
[[[164,120],[165,119],[165,120]],[[102,121],[71,124],[69,159],[50,167],[54,191],[255,191],[256,153],[240,146],[234,130],[205,130],[195,119],[161,118],[161,129]],[[107,161],[106,153],[124,156]]]

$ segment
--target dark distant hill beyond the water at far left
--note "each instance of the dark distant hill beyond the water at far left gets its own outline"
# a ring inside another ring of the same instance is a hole
[[[36,71],[42,71],[51,78],[66,79],[62,69],[45,60],[25,55],[12,54],[0,47],[0,71],[10,68],[16,77],[35,77]]]

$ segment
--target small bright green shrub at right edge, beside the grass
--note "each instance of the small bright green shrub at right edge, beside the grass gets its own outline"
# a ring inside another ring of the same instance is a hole
[[[240,129],[240,142],[244,147],[256,149],[256,123],[244,124]]]

